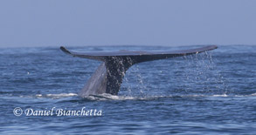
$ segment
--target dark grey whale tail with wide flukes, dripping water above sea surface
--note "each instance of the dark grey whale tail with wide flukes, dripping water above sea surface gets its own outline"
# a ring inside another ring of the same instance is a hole
[[[218,46],[216,45],[210,45],[181,51],[107,51],[82,53],[68,51],[65,47],[61,46],[60,50],[73,57],[89,58],[102,62],[79,93],[81,97],[86,97],[102,93],[117,95],[118,91],[120,91],[122,78],[128,68],[134,64],[170,57],[183,57],[217,48]]]

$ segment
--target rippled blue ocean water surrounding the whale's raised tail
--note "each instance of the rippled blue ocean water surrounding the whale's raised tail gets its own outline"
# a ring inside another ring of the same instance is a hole
[[[195,47],[68,49],[166,51]],[[197,55],[135,64],[118,96],[80,98],[78,91],[99,65],[98,61],[67,56],[57,47],[2,48],[0,133],[256,134],[256,46],[218,46]],[[82,110],[93,112],[82,116],[68,113]]]

